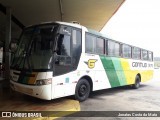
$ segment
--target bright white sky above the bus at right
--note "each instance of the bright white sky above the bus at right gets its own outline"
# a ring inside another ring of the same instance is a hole
[[[160,57],[160,0],[126,0],[101,32]]]

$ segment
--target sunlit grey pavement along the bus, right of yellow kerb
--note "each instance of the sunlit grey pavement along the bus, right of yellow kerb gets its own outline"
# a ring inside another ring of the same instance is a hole
[[[101,90],[94,92],[88,100],[80,103],[81,111],[160,111],[160,70],[155,70],[154,78],[151,81],[141,84],[139,89],[130,89],[127,87]],[[96,116],[96,113],[92,116]],[[63,119],[63,118],[62,118]],[[93,118],[65,118],[67,120],[93,119]],[[130,120],[144,118],[94,118]],[[145,119],[160,119],[157,117]]]

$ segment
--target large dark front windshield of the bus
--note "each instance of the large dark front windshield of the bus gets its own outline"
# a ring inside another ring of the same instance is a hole
[[[40,25],[24,30],[11,67],[51,69],[52,50],[58,25]]]

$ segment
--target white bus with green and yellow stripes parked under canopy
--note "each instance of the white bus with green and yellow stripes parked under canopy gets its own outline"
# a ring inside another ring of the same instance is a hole
[[[26,27],[12,57],[10,86],[44,100],[129,85],[153,77],[153,52],[110,39],[80,24],[49,22]]]

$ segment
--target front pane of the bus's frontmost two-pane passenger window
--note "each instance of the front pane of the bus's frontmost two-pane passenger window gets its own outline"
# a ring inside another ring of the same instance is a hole
[[[95,41],[96,37],[90,34],[86,34],[86,52],[87,53],[95,53]]]

